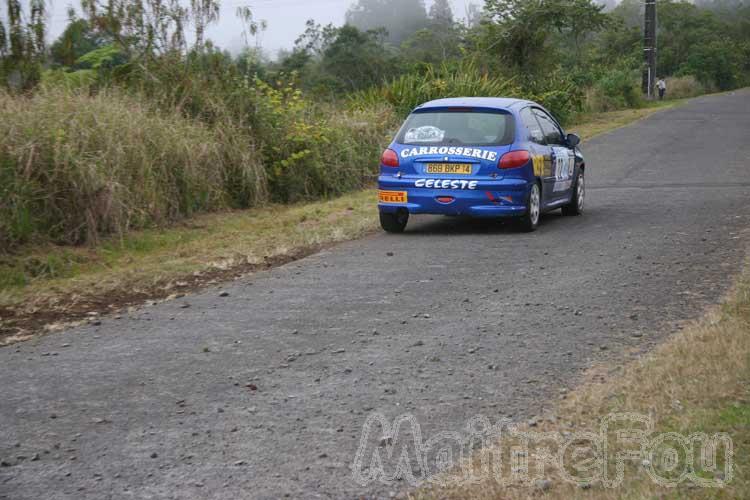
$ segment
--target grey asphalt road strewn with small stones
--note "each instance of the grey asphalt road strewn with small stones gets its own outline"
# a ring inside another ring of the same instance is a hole
[[[349,469],[371,412],[415,415],[423,439],[541,414],[592,363],[647,350],[730,285],[750,92],[583,149],[583,217],[547,215],[533,234],[413,218],[0,349],[0,498],[387,496],[403,483],[363,487]]]

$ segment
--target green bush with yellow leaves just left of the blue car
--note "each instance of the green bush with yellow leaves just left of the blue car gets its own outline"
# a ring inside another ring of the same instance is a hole
[[[275,88],[256,80],[248,90],[255,92],[253,135],[273,201],[334,196],[371,182],[394,126],[387,106],[337,109],[306,99],[291,83]]]

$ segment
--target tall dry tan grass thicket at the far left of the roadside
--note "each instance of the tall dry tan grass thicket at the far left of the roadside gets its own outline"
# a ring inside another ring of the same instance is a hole
[[[0,249],[60,243],[267,199],[248,135],[113,90],[0,93]]]

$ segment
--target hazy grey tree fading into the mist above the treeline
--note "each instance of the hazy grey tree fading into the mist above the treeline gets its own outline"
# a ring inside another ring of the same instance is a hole
[[[429,19],[424,0],[358,0],[346,12],[346,23],[360,31],[385,28],[388,41],[399,45]]]

